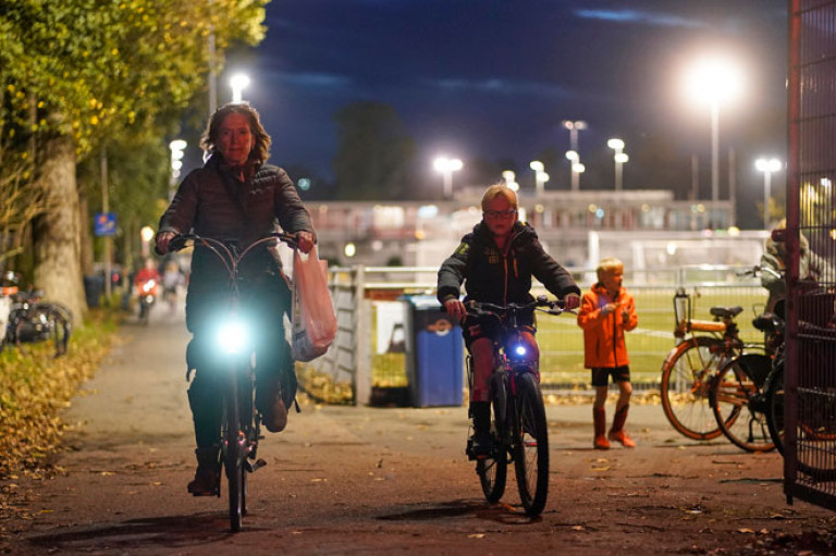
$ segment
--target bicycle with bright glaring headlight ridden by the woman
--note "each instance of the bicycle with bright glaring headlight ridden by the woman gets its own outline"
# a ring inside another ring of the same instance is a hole
[[[221,353],[217,355],[216,360],[222,361],[229,369],[229,381],[223,388],[219,442],[221,462],[229,486],[230,527],[233,532],[241,531],[243,517],[247,514],[247,474],[267,465],[263,459],[257,457],[258,441],[263,436],[260,433],[261,419],[255,405],[253,346],[248,344],[247,326],[238,316],[238,268],[242,260],[257,247],[275,245],[276,242],[297,247],[295,236],[283,233],[270,234],[241,249],[235,243],[195,234],[175,236],[170,243],[172,251],[181,250],[189,244],[205,247],[223,262],[230,276],[226,316],[223,330],[219,331],[217,336]],[[220,475],[218,481],[216,493],[220,497]]]

